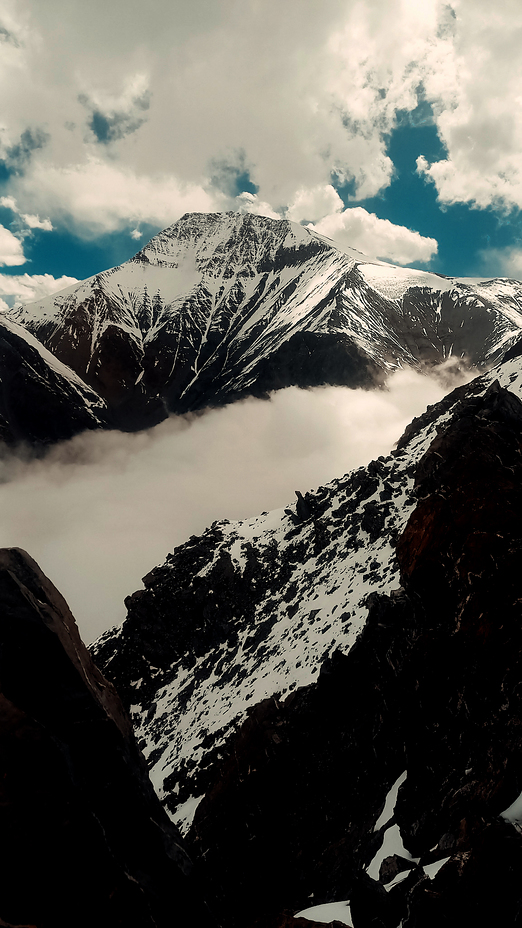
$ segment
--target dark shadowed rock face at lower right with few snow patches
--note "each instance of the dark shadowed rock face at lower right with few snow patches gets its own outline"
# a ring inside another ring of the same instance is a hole
[[[470,401],[417,467],[403,589],[317,684],[251,711],[189,834],[227,924],[311,892],[354,928],[522,924],[500,817],[522,790],[521,439],[512,394]]]

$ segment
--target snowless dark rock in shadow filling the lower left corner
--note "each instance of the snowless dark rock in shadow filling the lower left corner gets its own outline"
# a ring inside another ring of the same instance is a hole
[[[114,688],[31,558],[0,550],[0,924],[212,925]]]

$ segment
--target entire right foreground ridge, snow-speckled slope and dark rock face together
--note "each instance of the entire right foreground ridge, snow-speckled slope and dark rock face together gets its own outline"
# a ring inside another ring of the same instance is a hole
[[[521,923],[521,394],[515,346],[389,457],[175,549],[95,644],[226,928]]]

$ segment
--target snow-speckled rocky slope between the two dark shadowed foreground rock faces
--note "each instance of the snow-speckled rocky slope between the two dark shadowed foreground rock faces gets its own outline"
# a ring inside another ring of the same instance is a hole
[[[398,586],[394,546],[416,503],[417,463],[462,402],[495,379],[521,394],[520,358],[431,407],[390,456],[287,509],[191,538],[126,600],[123,626],[94,645],[182,827],[249,707],[316,680],[332,651],[357,639],[368,595]]]

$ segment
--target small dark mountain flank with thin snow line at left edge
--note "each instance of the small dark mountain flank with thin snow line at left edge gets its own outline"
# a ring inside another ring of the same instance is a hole
[[[0,439],[45,446],[108,424],[106,402],[27,329],[0,314]]]

